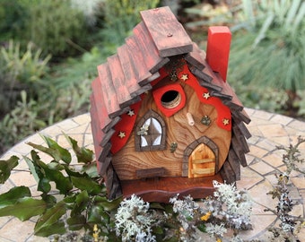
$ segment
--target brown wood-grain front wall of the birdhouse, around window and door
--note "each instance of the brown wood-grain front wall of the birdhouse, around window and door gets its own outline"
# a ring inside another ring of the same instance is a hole
[[[136,169],[160,167],[166,169],[165,176],[181,177],[184,151],[187,145],[204,135],[208,136],[219,147],[218,162],[219,167],[222,167],[229,151],[231,132],[223,130],[216,125],[217,112],[212,106],[202,104],[197,99],[193,89],[185,85],[184,82],[181,82],[181,85],[183,85],[183,89],[187,94],[187,104],[185,108],[172,117],[165,117],[161,113],[153,101],[151,92],[144,97],[135,126],[148,110],[154,110],[163,117],[167,126],[166,147],[168,148],[165,151],[135,152],[135,135],[131,135],[126,146],[121,151],[118,151],[112,160],[120,179],[136,179]],[[193,115],[195,125],[190,126],[187,124],[187,112]],[[204,115],[211,118],[211,125],[201,124],[201,118]],[[170,143],[178,143],[176,151],[170,152]]]

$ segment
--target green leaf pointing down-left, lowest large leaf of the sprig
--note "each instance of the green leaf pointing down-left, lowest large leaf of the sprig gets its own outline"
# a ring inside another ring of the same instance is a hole
[[[65,212],[66,207],[64,201],[60,201],[54,207],[49,208],[37,221],[34,228],[35,235],[48,236],[51,234],[57,234],[57,232],[53,233],[52,231],[54,231],[54,227],[56,228],[59,225],[62,225],[65,228],[65,224],[58,221],[65,214]],[[58,230],[58,234],[60,231]]]

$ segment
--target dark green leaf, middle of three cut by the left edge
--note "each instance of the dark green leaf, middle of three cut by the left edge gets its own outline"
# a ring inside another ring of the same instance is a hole
[[[4,206],[13,205],[20,198],[30,196],[30,189],[26,186],[15,186],[8,192],[0,194],[0,208]]]

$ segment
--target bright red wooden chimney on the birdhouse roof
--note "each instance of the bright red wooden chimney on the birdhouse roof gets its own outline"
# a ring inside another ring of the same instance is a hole
[[[231,44],[231,31],[226,26],[213,26],[208,30],[206,62],[214,72],[220,73],[224,82],[227,79]]]

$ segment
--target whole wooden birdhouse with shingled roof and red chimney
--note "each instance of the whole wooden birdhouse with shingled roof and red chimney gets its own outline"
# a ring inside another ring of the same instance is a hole
[[[169,7],[141,17],[92,82],[99,173],[109,199],[205,197],[247,166],[250,119],[226,82],[231,32],[211,27],[205,54]]]

